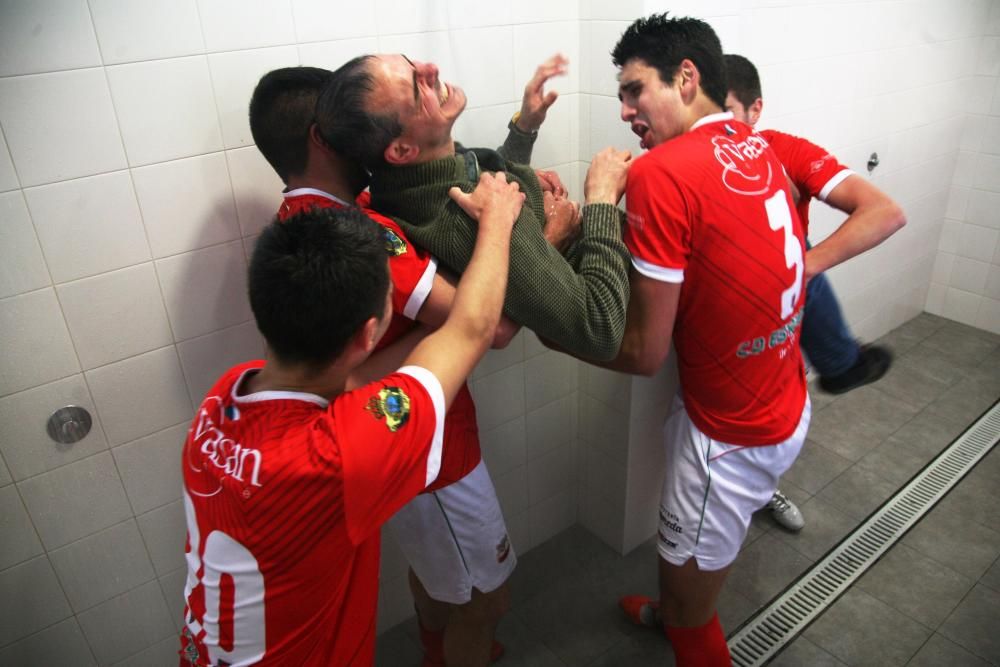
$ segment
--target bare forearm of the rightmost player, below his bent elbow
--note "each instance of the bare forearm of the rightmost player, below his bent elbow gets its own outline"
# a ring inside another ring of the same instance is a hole
[[[855,210],[830,236],[806,253],[806,277],[812,277],[874,248],[906,224],[892,201]]]

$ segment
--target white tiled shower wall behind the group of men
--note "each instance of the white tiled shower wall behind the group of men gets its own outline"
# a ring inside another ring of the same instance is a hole
[[[0,664],[175,664],[180,444],[214,377],[262,348],[243,282],[247,250],[280,189],[245,118],[262,73],[336,67],[376,50],[434,60],[469,95],[456,136],[489,145],[535,64],[563,51],[573,67],[557,84],[562,98],[535,163],[579,196],[593,152],[638,148],[618,120],[607,54],[631,19],[661,4],[3,3]],[[996,179],[960,169],[966,180],[950,188],[956,161],[968,165],[969,149],[985,153],[989,143],[967,134],[958,152],[967,112],[985,119],[991,108],[996,37],[983,34],[998,34],[988,27],[995,4],[666,7],[708,18],[727,50],[761,65],[765,126],[800,132],[862,173],[879,152],[875,180],[910,224],[833,272],[866,338],[922,309],[946,205],[950,218],[992,228],[995,241],[997,226],[977,211],[991,210],[986,190],[1000,190]],[[995,139],[993,124],[983,120],[983,137]],[[969,205],[959,207],[962,188]],[[839,220],[814,215],[814,240]],[[622,517],[655,511],[660,416],[650,405],[662,411],[672,386],[580,366],[527,333],[490,353],[472,388],[519,551],[578,518],[621,548],[649,530],[648,515]],[[94,430],[58,446],[44,421],[69,404],[91,411]],[[380,627],[411,613],[405,567],[387,541]]]

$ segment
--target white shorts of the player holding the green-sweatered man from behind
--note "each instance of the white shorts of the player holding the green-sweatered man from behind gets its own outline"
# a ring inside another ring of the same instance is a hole
[[[417,496],[387,525],[427,593],[441,602],[465,604],[473,588],[496,590],[517,564],[483,461],[454,484]]]

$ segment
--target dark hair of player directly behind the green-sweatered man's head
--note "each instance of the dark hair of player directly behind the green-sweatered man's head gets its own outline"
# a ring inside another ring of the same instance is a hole
[[[268,72],[250,97],[250,133],[257,149],[285,183],[306,168],[309,128],[316,100],[330,78],[318,67],[284,67]]]

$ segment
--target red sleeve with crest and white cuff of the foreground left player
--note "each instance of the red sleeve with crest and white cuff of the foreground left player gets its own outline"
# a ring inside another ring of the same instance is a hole
[[[407,366],[342,394],[331,411],[345,523],[351,541],[360,544],[437,478],[444,392],[430,371]]]

